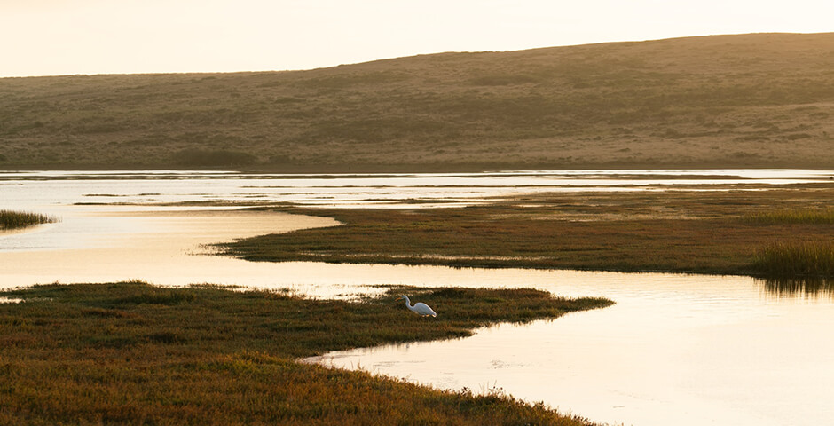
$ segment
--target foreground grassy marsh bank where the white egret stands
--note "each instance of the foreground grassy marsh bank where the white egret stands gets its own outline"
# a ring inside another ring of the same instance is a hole
[[[422,319],[395,302],[431,304]],[[2,424],[587,424],[544,406],[295,362],[554,319],[600,299],[537,290],[396,289],[363,302],[139,282],[4,291]],[[492,309],[501,306],[500,310]]]

